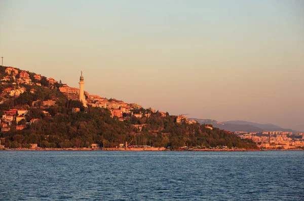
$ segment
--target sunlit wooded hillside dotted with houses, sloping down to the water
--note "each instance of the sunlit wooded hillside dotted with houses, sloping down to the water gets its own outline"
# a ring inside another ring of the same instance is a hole
[[[52,78],[0,66],[0,138],[6,147],[238,147],[256,149],[249,139],[189,121],[183,116],[144,109],[116,99],[86,93],[88,108],[77,89]]]

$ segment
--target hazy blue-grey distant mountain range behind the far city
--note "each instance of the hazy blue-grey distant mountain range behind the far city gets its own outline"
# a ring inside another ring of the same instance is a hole
[[[274,124],[259,124],[249,121],[223,121],[219,122],[213,119],[196,119],[189,118],[190,120],[194,119],[201,124],[212,124],[214,127],[236,132],[236,131],[246,131],[246,132],[262,132],[262,131],[288,131],[295,132],[292,129],[282,128]]]

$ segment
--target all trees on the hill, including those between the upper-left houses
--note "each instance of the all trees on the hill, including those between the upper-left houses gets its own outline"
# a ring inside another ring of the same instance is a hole
[[[28,72],[32,80],[33,73]],[[0,68],[0,78],[9,76],[5,68]],[[18,123],[14,120],[9,125],[10,130],[0,134],[2,144],[6,147],[29,147],[37,144],[42,148],[88,147],[93,143],[101,147],[116,147],[124,142],[146,144],[156,147],[179,148],[182,146],[201,147],[238,147],[256,149],[251,140],[241,140],[234,133],[213,128],[206,128],[199,123],[177,123],[176,116],[148,109],[133,110],[132,113],[149,114],[135,117],[124,114],[124,121],[111,117],[108,109],[83,107],[79,101],[72,101],[59,91],[61,83],[50,84],[43,77],[42,86],[36,84],[15,84],[12,80],[1,81],[0,93],[8,87],[23,87],[25,91],[18,97],[2,95],[0,115],[10,109],[25,109],[28,111],[25,119]],[[32,89],[36,91],[31,92]],[[53,100],[52,106],[43,105],[43,101]],[[80,108],[80,112],[72,112],[72,108]],[[16,130],[16,125],[22,125],[31,119],[39,119],[27,124],[22,130]]]

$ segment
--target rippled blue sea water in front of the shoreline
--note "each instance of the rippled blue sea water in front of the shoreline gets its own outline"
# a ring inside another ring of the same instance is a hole
[[[0,151],[0,200],[304,200],[304,151]]]

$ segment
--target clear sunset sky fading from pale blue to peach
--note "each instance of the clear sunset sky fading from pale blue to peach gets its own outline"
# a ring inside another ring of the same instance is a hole
[[[2,0],[0,54],[171,115],[304,131],[300,0]]]

